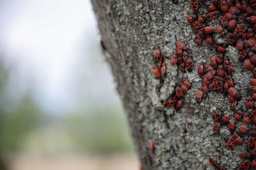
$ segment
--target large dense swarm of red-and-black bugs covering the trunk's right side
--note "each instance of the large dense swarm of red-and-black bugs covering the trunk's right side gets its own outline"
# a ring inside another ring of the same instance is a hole
[[[227,36],[228,43],[232,46],[236,46],[237,50],[239,50],[239,57],[237,58],[243,60],[244,67],[246,67],[248,71],[252,71],[253,75],[256,77],[256,0],[211,0],[211,3],[207,1],[191,0],[191,8],[195,13],[198,13],[199,3],[204,3],[207,10],[209,10],[209,13],[205,13],[200,16],[189,15],[187,17],[188,22],[192,24],[192,29],[197,30],[195,43],[197,45],[202,45],[202,39],[204,38],[207,44],[214,45],[214,41],[212,41],[211,38],[211,34],[214,30],[221,36]],[[214,18],[219,18],[221,24],[216,25],[215,27],[205,26],[206,20],[212,20]],[[225,48],[218,45],[214,46],[218,52],[225,52]],[[226,61],[224,61],[223,64],[219,63],[219,57],[216,57],[215,61],[214,58],[212,58],[210,68],[207,65],[198,67],[198,73],[203,78],[203,84],[202,90],[198,90],[196,93],[196,101],[200,101],[203,96],[203,92],[208,93],[208,90],[217,90],[218,92],[228,94],[230,109],[235,110],[237,99],[239,99],[240,96],[237,90],[233,87],[232,77],[228,75],[228,73],[232,73],[234,71],[234,68],[228,68],[227,66],[229,66],[229,64],[227,65]],[[215,66],[215,62],[220,65]],[[218,78],[218,80],[222,81],[216,81],[217,78],[215,78],[214,82],[214,74],[216,74],[214,69],[217,69],[217,76],[222,78]],[[225,80],[223,80],[223,78]],[[208,82],[208,79],[212,79],[212,83]],[[254,108],[253,99],[256,99],[256,79],[252,78],[251,83],[252,85],[248,88],[250,95],[246,98],[246,108],[248,108],[248,110]],[[256,110],[253,110],[251,113],[250,111],[245,111],[243,113],[241,110],[238,110],[234,114],[234,118],[238,121],[243,117],[244,123],[250,124],[250,122],[256,123],[255,115]],[[235,144],[243,143],[241,137],[246,132],[246,125],[242,125],[240,127],[238,135],[234,133],[235,125],[234,122],[229,121],[228,115],[214,113],[212,118],[217,121],[212,127],[212,131],[214,133],[218,131],[221,125],[228,124],[232,133],[227,142],[228,148],[232,149]],[[241,153],[240,156],[246,160],[242,162],[239,169],[249,169],[250,166],[252,168],[256,168],[255,139],[252,137],[256,136],[255,125],[252,125],[250,134],[251,136],[248,137],[248,148],[252,149],[252,153],[250,155]],[[209,162],[211,166],[216,169],[220,169],[220,166],[214,159],[209,159]]]

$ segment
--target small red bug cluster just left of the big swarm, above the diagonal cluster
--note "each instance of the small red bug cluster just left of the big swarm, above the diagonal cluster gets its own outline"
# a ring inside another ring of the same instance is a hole
[[[187,69],[188,72],[191,72],[194,64],[193,59],[188,54],[188,46],[182,41],[177,41],[175,51],[176,53],[173,53],[170,59],[170,64],[172,66],[179,64],[180,71],[184,72]]]

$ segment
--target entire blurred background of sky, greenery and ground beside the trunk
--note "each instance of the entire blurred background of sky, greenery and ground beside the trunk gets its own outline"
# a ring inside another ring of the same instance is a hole
[[[0,21],[0,170],[138,169],[90,1],[0,1]]]

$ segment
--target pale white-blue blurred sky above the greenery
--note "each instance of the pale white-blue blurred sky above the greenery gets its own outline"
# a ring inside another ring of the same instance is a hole
[[[42,108],[60,113],[97,101],[118,101],[100,54],[89,0],[8,0],[0,4],[0,52],[12,69],[13,97],[31,87]]]

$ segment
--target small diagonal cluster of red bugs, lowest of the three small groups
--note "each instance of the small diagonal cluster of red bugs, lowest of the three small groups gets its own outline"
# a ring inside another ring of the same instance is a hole
[[[182,99],[184,97],[184,92],[188,92],[188,89],[191,87],[191,83],[186,78],[181,78],[179,86],[175,87],[175,92],[171,95],[171,100],[166,101],[163,106],[164,108],[170,108],[175,106],[179,109],[182,106]]]

